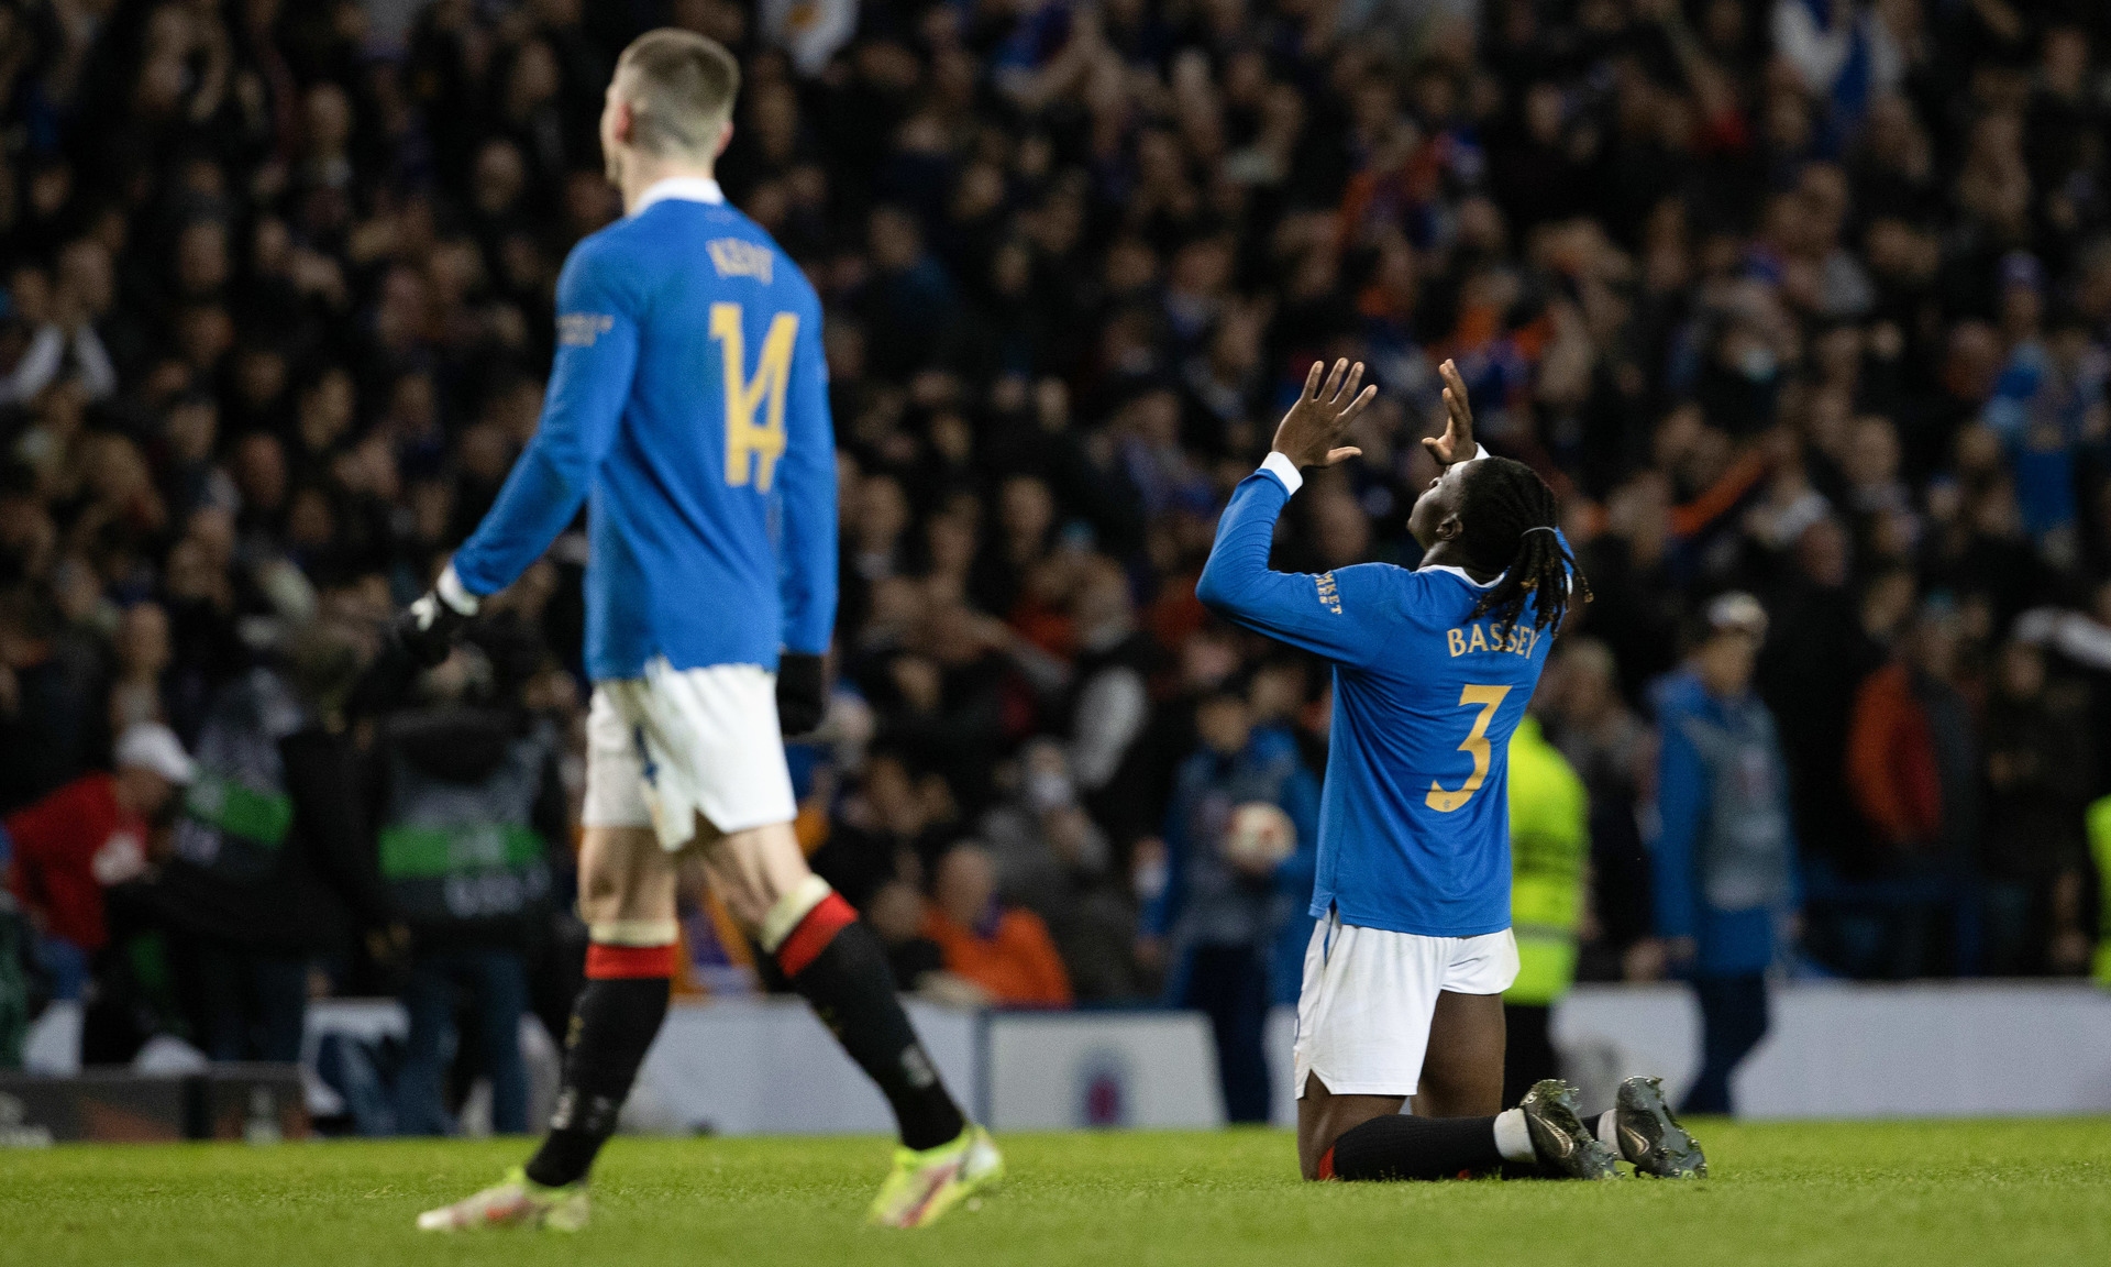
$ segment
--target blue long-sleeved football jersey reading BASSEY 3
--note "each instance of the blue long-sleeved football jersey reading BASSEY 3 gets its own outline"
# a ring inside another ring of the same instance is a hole
[[[1486,589],[1459,568],[1269,570],[1290,490],[1243,479],[1197,595],[1233,621],[1334,661],[1311,912],[1476,938],[1509,927],[1509,735],[1554,629],[1471,619]]]

